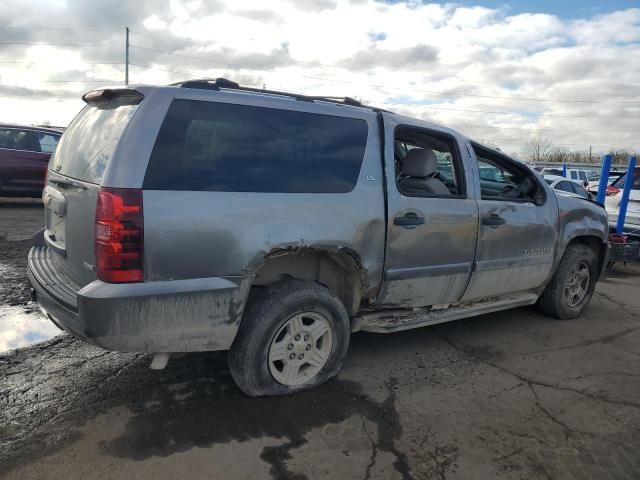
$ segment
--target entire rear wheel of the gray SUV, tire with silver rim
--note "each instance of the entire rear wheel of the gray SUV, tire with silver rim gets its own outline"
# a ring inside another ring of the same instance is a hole
[[[278,282],[249,301],[228,353],[231,376],[252,397],[313,388],[338,373],[350,335],[349,315],[329,289]]]

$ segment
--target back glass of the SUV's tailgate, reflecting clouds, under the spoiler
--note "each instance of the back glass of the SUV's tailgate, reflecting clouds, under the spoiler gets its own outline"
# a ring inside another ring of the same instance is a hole
[[[140,97],[133,96],[89,103],[60,139],[52,169],[68,177],[99,184],[138,103]]]

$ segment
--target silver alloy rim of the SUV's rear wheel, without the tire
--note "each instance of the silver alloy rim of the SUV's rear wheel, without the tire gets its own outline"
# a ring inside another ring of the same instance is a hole
[[[294,315],[280,327],[269,346],[269,372],[283,385],[301,385],[324,367],[331,354],[331,324],[316,312]]]

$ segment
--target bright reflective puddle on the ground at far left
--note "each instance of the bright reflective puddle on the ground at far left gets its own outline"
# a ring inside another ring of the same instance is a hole
[[[27,347],[62,333],[34,303],[0,306],[0,353]]]

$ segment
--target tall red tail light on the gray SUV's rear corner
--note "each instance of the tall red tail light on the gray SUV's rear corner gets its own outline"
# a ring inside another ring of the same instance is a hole
[[[142,190],[100,188],[95,241],[96,272],[100,280],[142,282]]]

